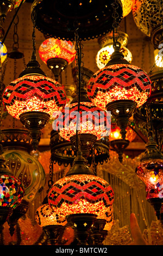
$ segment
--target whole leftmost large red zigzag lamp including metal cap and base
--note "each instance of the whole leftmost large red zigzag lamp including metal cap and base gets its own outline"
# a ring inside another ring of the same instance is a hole
[[[41,129],[46,126],[54,112],[66,105],[62,86],[48,78],[32,56],[20,77],[12,81],[4,91],[3,104],[8,113],[20,119],[33,138],[34,150],[40,141]]]

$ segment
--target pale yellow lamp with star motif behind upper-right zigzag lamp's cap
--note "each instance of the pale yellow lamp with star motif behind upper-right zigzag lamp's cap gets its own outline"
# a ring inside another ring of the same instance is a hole
[[[126,33],[118,31],[115,36],[118,39],[118,42],[120,42],[121,44],[120,51],[122,52],[124,59],[131,63],[133,57],[128,48],[126,48],[128,43],[128,35]],[[98,44],[101,49],[96,55],[96,64],[99,69],[104,68],[104,66],[109,62],[111,54],[114,52],[113,43],[114,41],[112,32],[98,38]]]

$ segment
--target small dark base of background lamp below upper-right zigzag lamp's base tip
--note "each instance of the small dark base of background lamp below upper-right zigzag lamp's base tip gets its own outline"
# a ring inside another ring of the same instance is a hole
[[[114,149],[118,154],[118,159],[121,163],[123,160],[122,155],[124,153],[124,150],[128,147],[129,143],[130,142],[128,141],[128,139],[114,139],[114,141],[110,142],[112,149]]]

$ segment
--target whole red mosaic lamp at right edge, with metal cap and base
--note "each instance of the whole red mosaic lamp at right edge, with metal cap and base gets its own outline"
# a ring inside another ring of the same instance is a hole
[[[146,184],[146,199],[153,206],[156,217],[160,220],[162,208],[163,155],[158,150],[153,137],[148,138],[146,151],[136,168],[136,174]]]

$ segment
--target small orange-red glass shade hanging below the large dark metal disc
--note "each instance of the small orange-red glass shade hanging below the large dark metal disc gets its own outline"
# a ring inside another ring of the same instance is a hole
[[[52,58],[62,58],[71,64],[76,57],[76,50],[71,41],[48,38],[40,45],[39,56],[45,64]]]

